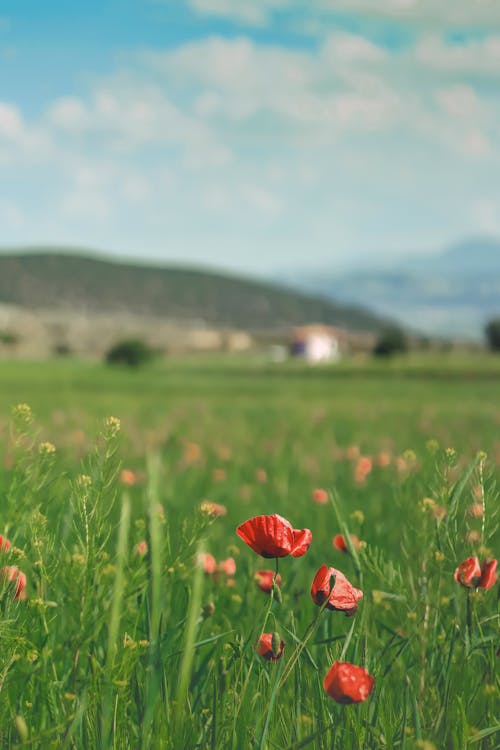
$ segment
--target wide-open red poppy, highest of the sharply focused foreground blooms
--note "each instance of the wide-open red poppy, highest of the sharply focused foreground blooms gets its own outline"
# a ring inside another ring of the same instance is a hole
[[[302,557],[312,541],[309,529],[294,529],[277,513],[250,518],[238,526],[236,533],[262,557]]]

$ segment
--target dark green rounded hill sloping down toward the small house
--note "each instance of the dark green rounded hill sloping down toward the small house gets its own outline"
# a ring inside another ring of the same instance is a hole
[[[352,305],[213,271],[103,260],[52,250],[0,253],[0,305],[126,312],[247,330],[327,323],[377,331]]]

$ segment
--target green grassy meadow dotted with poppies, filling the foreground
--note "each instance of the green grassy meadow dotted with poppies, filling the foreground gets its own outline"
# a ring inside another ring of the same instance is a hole
[[[454,578],[500,551],[499,358],[2,361],[0,449],[1,747],[500,747],[499,586]],[[274,513],[305,554],[236,534]]]

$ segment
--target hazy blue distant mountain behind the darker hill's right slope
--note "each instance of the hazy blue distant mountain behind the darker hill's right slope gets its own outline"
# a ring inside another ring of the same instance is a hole
[[[341,274],[301,274],[296,286],[363,304],[429,335],[478,339],[500,315],[500,240],[475,239],[434,255]]]

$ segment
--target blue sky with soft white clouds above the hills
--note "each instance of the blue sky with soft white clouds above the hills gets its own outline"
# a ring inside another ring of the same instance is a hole
[[[0,246],[254,273],[500,235],[500,0],[0,0]]]

